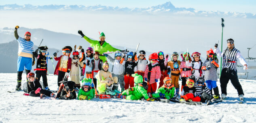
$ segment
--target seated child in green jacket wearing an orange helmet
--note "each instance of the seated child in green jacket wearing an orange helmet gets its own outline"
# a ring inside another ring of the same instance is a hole
[[[171,78],[165,77],[163,79],[164,85],[157,89],[157,93],[152,94],[153,98],[161,98],[161,99],[171,99],[174,96],[175,87],[171,84]]]

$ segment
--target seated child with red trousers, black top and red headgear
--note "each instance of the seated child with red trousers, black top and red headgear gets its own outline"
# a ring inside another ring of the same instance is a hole
[[[200,102],[200,97],[196,96],[196,88],[194,86],[195,81],[191,79],[190,77],[187,78],[186,85],[184,86],[181,95],[180,95],[180,101],[195,101]]]

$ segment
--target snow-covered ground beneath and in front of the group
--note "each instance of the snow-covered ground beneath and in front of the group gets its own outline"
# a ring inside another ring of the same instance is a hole
[[[25,74],[23,74],[25,82]],[[256,122],[256,81],[241,79],[245,104],[228,83],[228,98],[214,105],[129,101],[123,99],[42,100],[23,96],[16,87],[17,73],[0,73],[0,123],[234,123]],[[49,75],[49,88],[57,90],[57,76]],[[180,82],[181,83],[181,82]],[[220,88],[220,83],[218,86]]]

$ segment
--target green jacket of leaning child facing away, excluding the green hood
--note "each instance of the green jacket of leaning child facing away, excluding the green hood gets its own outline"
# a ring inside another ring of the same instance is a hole
[[[122,95],[127,95],[126,90],[123,91]],[[133,87],[133,91],[129,91],[129,95],[126,96],[127,100],[140,100],[144,97],[146,100],[149,98],[147,94],[147,90],[145,90],[142,86],[136,85]]]

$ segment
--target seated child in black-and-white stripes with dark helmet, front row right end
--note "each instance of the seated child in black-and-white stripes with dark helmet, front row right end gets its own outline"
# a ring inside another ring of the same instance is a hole
[[[211,90],[205,86],[205,79],[198,77],[196,86],[196,96],[201,98],[201,102],[214,102],[216,99],[212,96]]]

